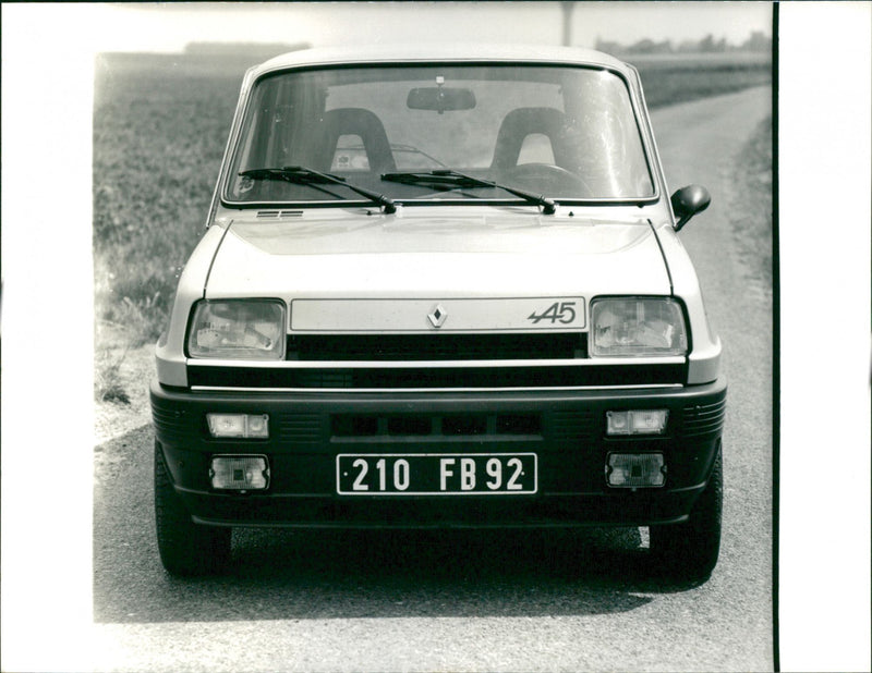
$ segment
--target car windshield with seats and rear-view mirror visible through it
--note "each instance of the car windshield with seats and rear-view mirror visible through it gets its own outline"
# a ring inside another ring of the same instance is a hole
[[[347,185],[402,204],[523,203],[504,187],[565,203],[655,194],[627,84],[588,68],[270,74],[253,88],[230,167],[225,198],[231,203],[360,200]],[[340,182],[277,179],[289,167]],[[447,179],[449,170],[471,179]]]

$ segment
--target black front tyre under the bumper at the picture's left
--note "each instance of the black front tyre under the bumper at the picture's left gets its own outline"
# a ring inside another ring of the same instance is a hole
[[[164,451],[155,442],[155,523],[164,567],[173,575],[217,573],[230,560],[230,528],[199,526],[172,488]]]

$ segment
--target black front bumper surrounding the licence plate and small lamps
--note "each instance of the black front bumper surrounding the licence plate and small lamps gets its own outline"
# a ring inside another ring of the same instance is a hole
[[[152,387],[158,449],[198,523],[323,528],[643,526],[685,521],[720,450],[726,381],[532,392],[204,392]],[[663,436],[606,438],[607,411],[668,409]],[[209,436],[207,413],[269,415],[266,440]],[[535,494],[341,495],[340,453],[535,453]],[[611,452],[664,454],[666,484],[610,488]],[[216,491],[211,457],[266,455],[264,491]]]

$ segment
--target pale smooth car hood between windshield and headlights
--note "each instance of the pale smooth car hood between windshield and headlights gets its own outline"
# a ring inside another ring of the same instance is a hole
[[[450,212],[449,212],[450,211]],[[529,209],[305,210],[228,224],[207,297],[669,294],[650,223]]]

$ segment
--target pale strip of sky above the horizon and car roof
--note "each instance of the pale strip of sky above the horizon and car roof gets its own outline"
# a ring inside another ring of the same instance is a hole
[[[561,2],[286,2],[92,4],[87,34],[95,51],[181,51],[189,41],[365,42],[476,40],[558,45]],[[752,30],[772,35],[768,2],[574,2],[572,42],[597,37],[701,39],[740,44]],[[83,36],[84,37],[84,36]]]

